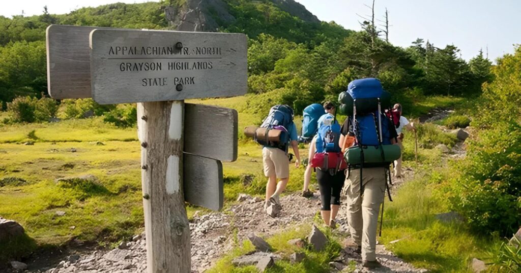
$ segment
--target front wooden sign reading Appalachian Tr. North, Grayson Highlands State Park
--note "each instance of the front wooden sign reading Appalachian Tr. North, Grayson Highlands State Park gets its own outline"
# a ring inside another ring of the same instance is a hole
[[[244,95],[245,34],[96,29],[92,97],[101,104]]]

